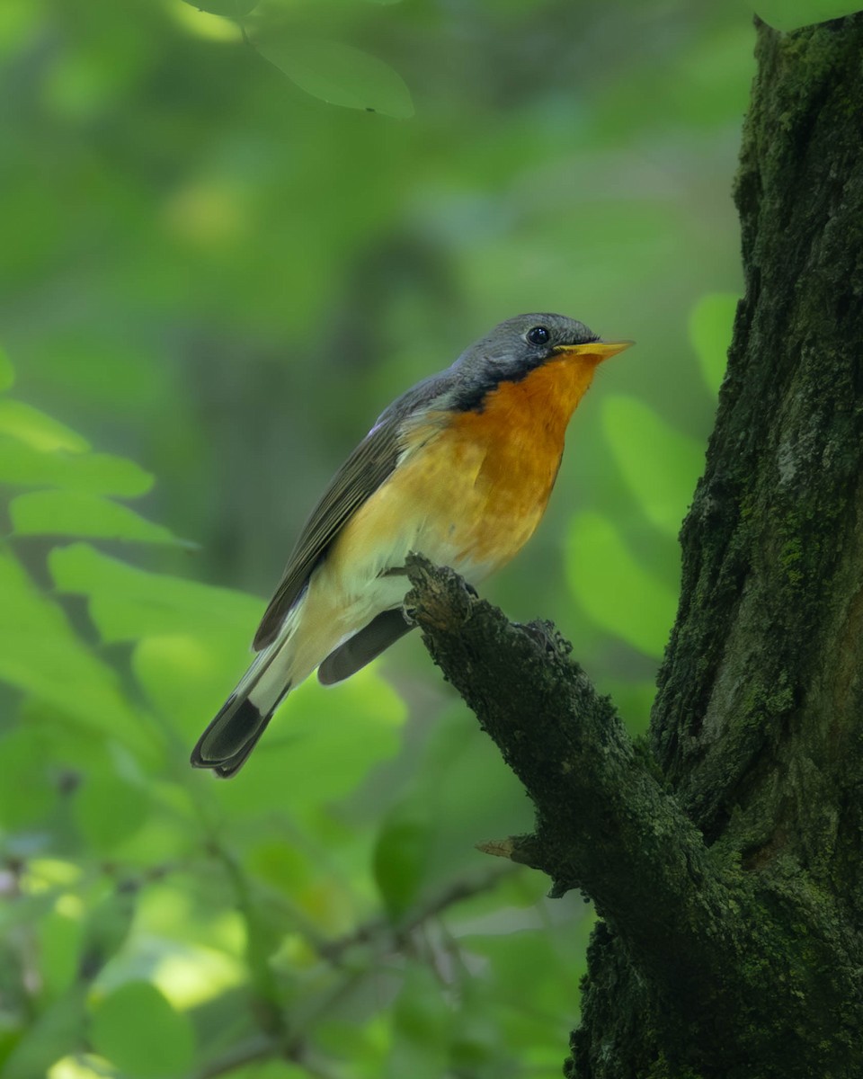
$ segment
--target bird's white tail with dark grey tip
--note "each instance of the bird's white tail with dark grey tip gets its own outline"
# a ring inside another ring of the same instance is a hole
[[[192,750],[195,768],[213,768],[228,778],[238,771],[266,729],[273,712],[284,700],[291,682],[274,667],[282,651],[274,641],[256,656],[239,684]]]

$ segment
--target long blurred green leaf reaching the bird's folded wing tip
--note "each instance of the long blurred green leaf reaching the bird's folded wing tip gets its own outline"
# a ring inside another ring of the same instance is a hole
[[[61,592],[87,597],[90,616],[106,643],[165,634],[219,637],[236,648],[239,666],[264,606],[244,592],[148,573],[85,543],[52,550],[49,569]]]

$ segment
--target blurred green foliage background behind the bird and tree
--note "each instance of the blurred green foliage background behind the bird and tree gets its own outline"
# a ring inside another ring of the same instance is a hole
[[[530,805],[419,639],[188,753],[343,456],[533,310],[638,347],[483,593],[644,729],[752,11],[204,6],[0,5],[0,1076],[557,1076],[590,907],[474,849]]]

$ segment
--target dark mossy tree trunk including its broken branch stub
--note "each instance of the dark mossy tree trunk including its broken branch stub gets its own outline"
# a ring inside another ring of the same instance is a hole
[[[414,560],[411,613],[581,888],[578,1079],[863,1075],[863,15],[757,29],[745,296],[649,746],[548,625]]]

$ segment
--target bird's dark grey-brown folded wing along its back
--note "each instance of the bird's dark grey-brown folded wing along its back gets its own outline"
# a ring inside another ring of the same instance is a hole
[[[450,379],[436,375],[409,390],[379,418],[312,510],[288,559],[275,596],[264,612],[252,647],[271,644],[291,605],[341,529],[395,470],[403,449],[403,421],[433,404],[449,388]]]

